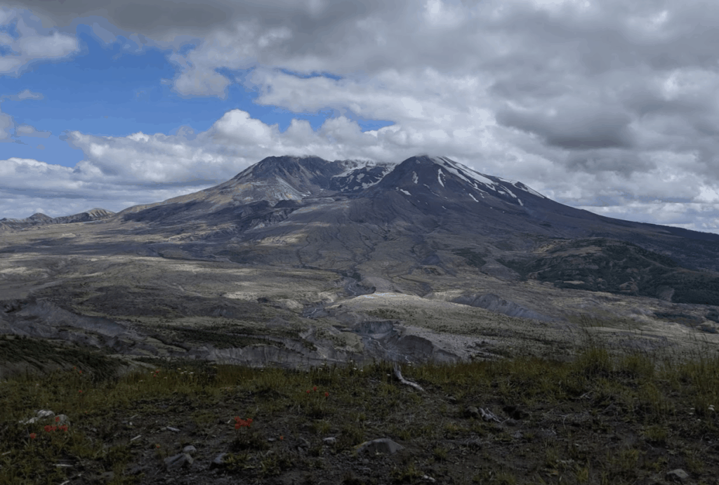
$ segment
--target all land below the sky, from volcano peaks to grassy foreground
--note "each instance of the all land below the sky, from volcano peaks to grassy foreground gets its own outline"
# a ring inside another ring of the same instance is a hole
[[[47,458],[14,445],[0,483],[719,471],[719,236],[447,157],[267,157],[117,213],[0,219],[0,310],[3,443]]]

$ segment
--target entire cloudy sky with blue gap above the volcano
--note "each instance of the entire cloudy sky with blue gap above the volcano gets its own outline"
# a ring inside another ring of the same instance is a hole
[[[713,0],[0,0],[0,218],[449,157],[719,234]]]

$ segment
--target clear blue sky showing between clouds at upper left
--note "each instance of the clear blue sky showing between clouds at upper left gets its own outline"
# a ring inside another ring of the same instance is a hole
[[[14,24],[1,27],[0,32],[18,37]],[[292,113],[278,106],[259,106],[252,102],[258,94],[239,83],[227,88],[226,99],[216,96],[183,98],[173,93],[170,85],[160,82],[175,75],[176,67],[167,59],[170,50],[150,48],[142,55],[136,55],[123,49],[124,45],[132,43],[131,40],[119,37],[111,45],[104,45],[93,36],[91,27],[87,25],[78,26],[77,38],[82,52],[73,60],[39,63],[22,77],[2,78],[3,93],[19,93],[27,89],[43,96],[40,101],[3,101],[3,111],[17,113],[14,115],[17,124],[28,124],[52,133],[45,139],[21,137],[21,143],[5,144],[2,146],[4,158],[46,160],[47,153],[52,152],[47,162],[74,167],[83,160],[84,154],[81,149],[63,141],[65,130],[103,137],[127,137],[137,131],[175,134],[179,123],[191,126],[194,131],[206,131],[226,111],[234,108],[247,111],[252,118],[265,124],[278,124],[280,132],[288,129],[293,118],[306,119],[316,130],[325,119],[339,116],[339,111],[331,108],[305,114]],[[191,47],[192,43],[183,45],[180,52],[187,52]],[[0,50],[3,54],[8,51],[7,48]],[[252,69],[221,71],[244,78]],[[340,78],[327,73],[303,75],[289,70],[283,72],[298,78],[321,75]],[[78,93],[82,93],[82,97]],[[393,124],[391,121],[364,119],[351,111],[344,111],[344,116],[357,121],[362,131]]]

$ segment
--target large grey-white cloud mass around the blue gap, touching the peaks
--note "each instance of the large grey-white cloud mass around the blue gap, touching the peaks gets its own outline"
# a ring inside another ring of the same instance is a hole
[[[0,72],[19,72],[32,52],[71,55],[73,27],[88,22],[103,42],[122,34],[137,52],[170,50],[177,72],[162,82],[180,96],[227,99],[239,83],[262,106],[335,113],[317,131],[295,119],[280,133],[230,110],[200,133],[68,132],[85,153],[78,180],[190,188],[271,154],[398,161],[432,152],[598,213],[719,232],[719,4],[0,2],[11,8],[1,22],[19,32],[0,37],[17,53],[0,57]],[[7,116],[0,137],[12,141]],[[357,117],[392,125],[363,133]],[[141,193],[133,200],[151,201]]]

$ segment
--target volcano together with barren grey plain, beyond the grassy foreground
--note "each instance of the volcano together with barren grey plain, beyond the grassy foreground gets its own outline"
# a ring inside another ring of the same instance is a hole
[[[687,328],[719,343],[719,235],[598,216],[447,157],[267,157],[196,193],[0,229],[0,333],[123,355],[554,356],[586,315],[617,348],[678,351]]]

